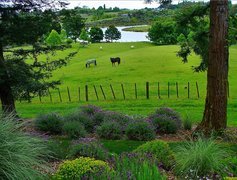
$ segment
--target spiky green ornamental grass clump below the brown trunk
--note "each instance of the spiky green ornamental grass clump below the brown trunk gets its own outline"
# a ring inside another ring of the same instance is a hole
[[[225,173],[227,164],[224,159],[227,156],[228,153],[224,147],[215,143],[214,140],[198,138],[197,141],[186,142],[177,147],[175,170],[181,178],[209,177],[212,179],[215,174],[222,176]]]

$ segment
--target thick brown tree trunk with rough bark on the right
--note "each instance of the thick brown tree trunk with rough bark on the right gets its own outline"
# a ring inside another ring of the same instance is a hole
[[[210,1],[207,94],[203,120],[197,131],[221,131],[227,125],[228,0]]]

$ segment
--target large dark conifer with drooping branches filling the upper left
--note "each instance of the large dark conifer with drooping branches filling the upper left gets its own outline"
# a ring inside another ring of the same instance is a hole
[[[54,2],[54,3],[53,3]],[[49,33],[59,26],[57,16],[47,7],[56,5],[56,1],[43,0],[2,0],[0,2],[0,99],[2,109],[6,113],[16,112],[15,100],[28,99],[54,88],[59,81],[46,81],[52,76],[52,71],[62,67],[66,61],[75,55],[70,54],[65,59],[39,61],[38,55],[49,56],[54,49],[65,49],[65,46],[41,46],[43,34]],[[65,5],[58,2],[59,5]],[[45,11],[40,11],[44,8]],[[56,18],[56,19],[55,19]],[[13,45],[29,44],[28,49],[12,49]],[[7,52],[7,53],[4,53]],[[26,59],[32,59],[31,64]]]

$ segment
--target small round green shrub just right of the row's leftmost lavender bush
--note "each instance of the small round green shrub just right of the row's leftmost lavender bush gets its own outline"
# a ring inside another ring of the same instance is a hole
[[[69,138],[75,139],[85,137],[86,130],[84,125],[78,121],[67,121],[63,125],[63,133]]]

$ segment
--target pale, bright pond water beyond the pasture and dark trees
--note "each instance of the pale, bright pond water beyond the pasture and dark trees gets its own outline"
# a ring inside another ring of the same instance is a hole
[[[122,29],[128,28],[128,27],[136,27],[136,26],[124,26],[124,27],[117,27],[118,30],[121,32],[121,39],[119,39],[116,42],[139,42],[139,41],[149,41],[147,38],[148,33],[147,32],[132,32],[132,31],[123,31]],[[107,28],[102,28],[103,32],[105,33],[105,30]],[[104,39],[105,41],[105,39]]]

